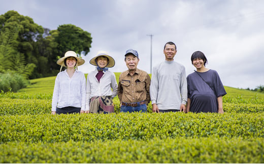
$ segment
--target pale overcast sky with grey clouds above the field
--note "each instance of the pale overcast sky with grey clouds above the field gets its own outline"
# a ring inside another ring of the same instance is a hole
[[[264,1],[250,0],[0,0],[0,15],[9,10],[31,17],[45,28],[74,24],[91,33],[92,44],[83,73],[93,71],[89,60],[105,50],[115,59],[112,72],[127,70],[127,49],[139,53],[138,68],[150,73],[164,60],[163,46],[177,45],[175,61],[195,69],[191,54],[202,51],[207,68],[216,70],[223,85],[254,89],[264,85]]]

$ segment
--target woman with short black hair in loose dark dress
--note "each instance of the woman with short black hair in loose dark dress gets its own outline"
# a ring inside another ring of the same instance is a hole
[[[191,55],[196,71],[187,76],[187,112],[224,113],[222,96],[226,94],[218,73],[207,69],[207,58],[201,51]]]

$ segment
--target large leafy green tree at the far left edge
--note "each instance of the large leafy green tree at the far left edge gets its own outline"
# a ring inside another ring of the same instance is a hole
[[[29,77],[38,64],[32,54],[34,43],[38,35],[43,34],[42,26],[34,23],[32,18],[8,11],[0,16],[0,59],[4,59],[0,66],[3,70],[24,70],[25,77]],[[16,67],[18,62],[19,67]]]

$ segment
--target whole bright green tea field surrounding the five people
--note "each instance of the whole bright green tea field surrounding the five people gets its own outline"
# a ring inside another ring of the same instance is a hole
[[[224,114],[120,113],[116,96],[113,114],[51,115],[55,78],[0,93],[1,163],[264,163],[263,93],[225,87]]]

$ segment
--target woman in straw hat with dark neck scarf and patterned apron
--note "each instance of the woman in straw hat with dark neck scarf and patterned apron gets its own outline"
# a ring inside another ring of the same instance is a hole
[[[115,60],[106,51],[98,51],[90,64],[96,69],[87,76],[85,113],[113,113],[117,82],[115,74],[107,68],[114,67]]]

